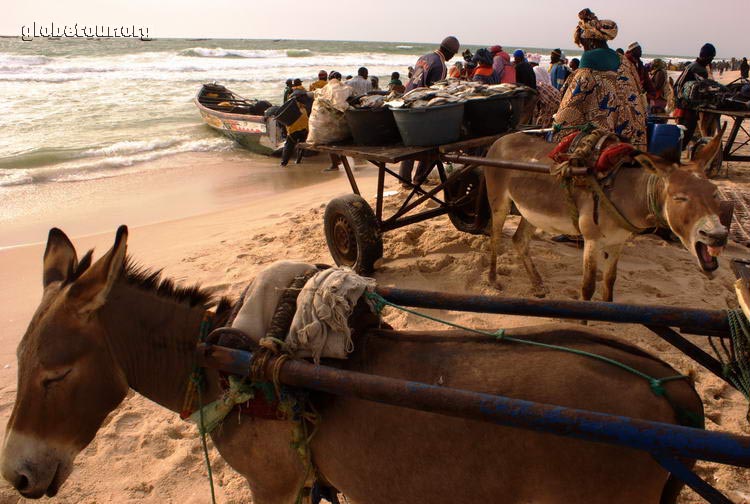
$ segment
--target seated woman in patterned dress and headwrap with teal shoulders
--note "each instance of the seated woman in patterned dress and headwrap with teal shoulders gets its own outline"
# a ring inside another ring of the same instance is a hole
[[[646,101],[632,63],[607,46],[617,36],[617,23],[599,19],[589,9],[578,13],[573,35],[583,47],[581,66],[563,95],[555,114],[557,137],[566,128],[587,123],[646,146]]]

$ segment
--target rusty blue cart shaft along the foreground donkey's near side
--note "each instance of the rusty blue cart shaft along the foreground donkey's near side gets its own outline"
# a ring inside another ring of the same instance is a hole
[[[277,359],[267,362],[266,379],[271,379]],[[252,354],[200,345],[198,361],[246,376]],[[392,406],[627,446],[664,456],[750,467],[750,437],[315,366],[303,360],[282,363],[278,377],[285,385]]]

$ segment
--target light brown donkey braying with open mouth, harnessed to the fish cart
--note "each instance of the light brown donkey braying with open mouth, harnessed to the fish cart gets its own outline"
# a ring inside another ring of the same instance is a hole
[[[552,165],[548,154],[554,147],[544,140],[516,133],[499,139],[487,157],[536,161]],[[721,134],[687,165],[642,154],[644,168],[623,168],[617,173],[609,198],[633,226],[647,229],[668,225],[698,260],[705,272],[719,267],[716,257],[727,242],[728,229],[719,220],[719,194],[704,174],[721,147]],[[633,235],[603,205],[596,208],[591,191],[573,187],[571,194],[560,181],[546,174],[485,168],[487,195],[492,208],[492,257],[489,280],[497,284],[497,256],[503,252],[502,231],[511,202],[521,213],[513,245],[531,279],[534,295],[547,294],[542,277],[529,256],[529,240],[536,228],[554,234],[582,235],[583,283],[581,299],[589,300],[596,289],[597,263],[604,266],[605,301],[612,301],[617,261],[623,245]],[[575,208],[574,208],[575,206]],[[574,215],[578,214],[574,223]],[[579,233],[580,230],[580,233]]]

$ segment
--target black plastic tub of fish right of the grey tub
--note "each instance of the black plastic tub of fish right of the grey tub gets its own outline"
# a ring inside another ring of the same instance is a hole
[[[466,102],[464,123],[471,136],[506,133],[521,120],[523,96],[490,96]]]

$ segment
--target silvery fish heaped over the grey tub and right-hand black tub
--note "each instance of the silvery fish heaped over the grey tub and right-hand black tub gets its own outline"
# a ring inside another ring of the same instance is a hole
[[[416,88],[400,97],[389,95],[385,104],[391,108],[425,108],[482,100],[490,96],[513,96],[527,88],[518,84],[482,84],[456,79],[440,81],[426,88]]]

